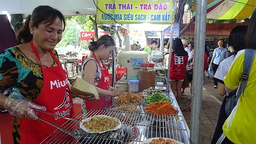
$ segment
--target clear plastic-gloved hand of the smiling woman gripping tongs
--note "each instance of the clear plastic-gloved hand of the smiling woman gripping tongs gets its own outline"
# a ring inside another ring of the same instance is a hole
[[[39,120],[34,109],[46,111],[45,106],[37,105],[29,100],[20,100],[8,97],[5,100],[4,108],[9,114],[18,118],[28,118],[32,120]]]

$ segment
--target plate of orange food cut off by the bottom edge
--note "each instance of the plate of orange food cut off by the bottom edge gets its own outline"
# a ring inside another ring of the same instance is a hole
[[[172,138],[149,138],[143,141],[141,144],[184,144]]]

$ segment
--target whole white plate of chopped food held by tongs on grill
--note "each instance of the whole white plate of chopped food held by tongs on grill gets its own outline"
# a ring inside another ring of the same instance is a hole
[[[122,123],[118,118],[107,115],[95,115],[82,120],[80,128],[89,133],[104,133],[110,130],[120,129],[121,125]]]

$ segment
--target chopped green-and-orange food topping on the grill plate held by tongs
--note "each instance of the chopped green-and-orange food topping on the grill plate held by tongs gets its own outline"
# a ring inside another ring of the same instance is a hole
[[[103,132],[114,129],[119,123],[113,118],[108,117],[93,117],[88,121],[84,121],[83,125],[91,132]]]

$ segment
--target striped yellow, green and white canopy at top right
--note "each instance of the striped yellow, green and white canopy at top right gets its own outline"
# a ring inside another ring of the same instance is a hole
[[[244,19],[251,16],[256,0],[207,0],[206,18],[218,20]],[[195,4],[192,4],[193,16],[196,15]]]

